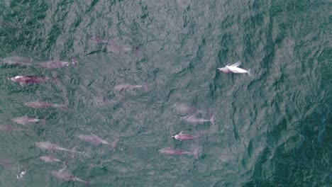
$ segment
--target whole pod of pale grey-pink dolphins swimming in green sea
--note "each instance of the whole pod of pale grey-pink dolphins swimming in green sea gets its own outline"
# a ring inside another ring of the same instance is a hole
[[[93,42],[96,42],[98,44],[106,44],[107,45],[107,50],[109,52],[132,52],[138,50],[138,47],[131,47],[128,45],[118,45],[116,42],[113,41],[107,41],[103,40],[97,36],[91,36],[90,40]],[[13,64],[13,65],[24,65],[24,66],[31,66],[31,62],[33,61],[31,58],[26,58],[26,57],[8,57],[3,60],[6,64]],[[77,58],[74,57],[72,60],[72,63],[70,62],[65,62],[65,61],[46,61],[46,62],[39,62],[37,67],[40,68],[45,68],[45,69],[57,69],[61,67],[69,67],[70,65],[73,65],[73,67],[77,67]],[[218,71],[224,74],[250,74],[250,69],[245,70],[239,68],[241,62],[236,62],[235,64],[227,64],[226,67],[221,67],[218,68]],[[9,77],[8,78],[11,81],[16,81],[18,84],[21,86],[25,86],[26,84],[40,84],[45,81],[52,80],[54,78],[50,77],[37,77],[37,76],[23,76],[23,75],[16,75],[15,77]],[[126,91],[128,89],[140,89],[140,88],[145,88],[147,89],[147,85],[132,85],[132,84],[120,84],[116,85],[114,87],[114,90],[116,91]],[[48,103],[45,101],[32,101],[28,103],[24,103],[24,106],[28,106],[31,108],[63,108],[63,110],[67,110],[67,103]],[[198,113],[204,113],[204,111],[199,111],[195,108],[189,107],[184,103],[179,103],[176,104],[175,106],[172,107],[173,111],[177,115],[182,115],[181,119],[186,121],[187,123],[192,123],[192,124],[201,124],[201,123],[211,123],[214,125],[214,115],[210,115],[209,119],[204,119],[204,118],[197,118],[196,115]],[[45,123],[45,118],[39,119],[39,118],[30,118],[28,116],[21,116],[21,117],[16,117],[12,119],[12,122],[18,123],[20,125],[27,125],[28,123],[37,123],[40,121],[43,121]],[[23,129],[21,128],[16,128],[13,125],[0,125],[0,131],[22,131]],[[102,139],[101,137],[98,137],[97,135],[77,135],[77,137],[80,140],[83,140],[85,142],[92,143],[93,145],[109,145],[112,147],[112,149],[115,151],[116,146],[118,144],[118,139],[114,140],[114,142],[108,142],[107,140]],[[189,140],[195,140],[200,137],[200,135],[189,135],[185,134],[183,131],[179,132],[177,135],[172,136],[175,140],[179,141],[189,141]],[[65,147],[60,147],[58,145],[55,145],[51,142],[35,142],[34,143],[35,147],[38,147],[40,149],[46,149],[46,150],[55,150],[55,151],[60,151],[60,152],[69,152],[71,157],[74,157],[74,154],[83,154],[82,152],[78,152],[76,150],[76,147],[72,149],[67,149]],[[193,152],[185,151],[182,149],[173,149],[172,147],[165,147],[162,149],[159,149],[161,154],[172,154],[172,155],[182,155],[182,154],[188,154],[188,155],[194,155],[195,159],[199,158],[199,148],[197,147],[194,149]],[[57,159],[52,156],[42,156],[40,157],[41,160],[44,162],[62,162],[60,159]],[[64,181],[80,181],[86,183],[86,186],[89,186],[89,180],[82,180],[79,179],[77,176],[74,176],[65,169],[67,169],[67,162],[62,162],[64,164],[64,168],[60,169],[60,171],[52,171],[52,176],[55,176],[58,179],[62,179]],[[1,163],[0,163],[1,164]],[[5,165],[5,164],[3,164]]]

